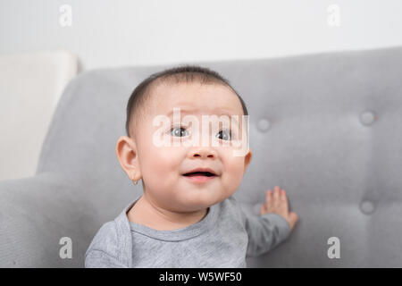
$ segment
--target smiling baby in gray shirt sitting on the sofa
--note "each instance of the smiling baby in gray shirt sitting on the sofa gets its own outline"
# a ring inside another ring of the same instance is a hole
[[[235,143],[248,146],[247,116],[215,71],[181,66],[143,80],[127,105],[127,136],[116,145],[121,168],[134,184],[142,180],[143,194],[97,231],[85,266],[246,267],[246,257],[287,239],[297,214],[284,189],[266,191],[260,214],[232,196],[252,156],[248,147],[235,152]]]

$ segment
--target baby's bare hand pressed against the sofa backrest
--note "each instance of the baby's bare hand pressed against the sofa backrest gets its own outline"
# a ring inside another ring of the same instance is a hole
[[[271,189],[266,191],[266,199],[260,208],[260,214],[267,213],[280,214],[289,223],[290,231],[293,230],[298,220],[296,213],[289,213],[288,198],[285,190],[279,186],[276,186],[273,192]]]

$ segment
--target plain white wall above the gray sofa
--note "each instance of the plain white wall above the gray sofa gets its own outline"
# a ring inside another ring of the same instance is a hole
[[[401,46],[401,14],[400,0],[0,0],[0,53],[63,48],[82,71]]]

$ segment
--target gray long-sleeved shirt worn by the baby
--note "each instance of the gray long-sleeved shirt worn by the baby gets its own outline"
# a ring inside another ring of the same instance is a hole
[[[290,233],[281,215],[255,214],[234,197],[210,206],[198,223],[158,231],[129,221],[138,198],[96,232],[85,267],[247,267],[247,257],[268,252]]]

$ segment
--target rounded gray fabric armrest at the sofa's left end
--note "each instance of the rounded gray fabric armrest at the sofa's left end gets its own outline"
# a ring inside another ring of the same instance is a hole
[[[85,226],[96,223],[79,194],[52,172],[0,181],[0,267],[83,267],[93,232]],[[63,237],[71,239],[71,258],[60,256],[68,247]]]

